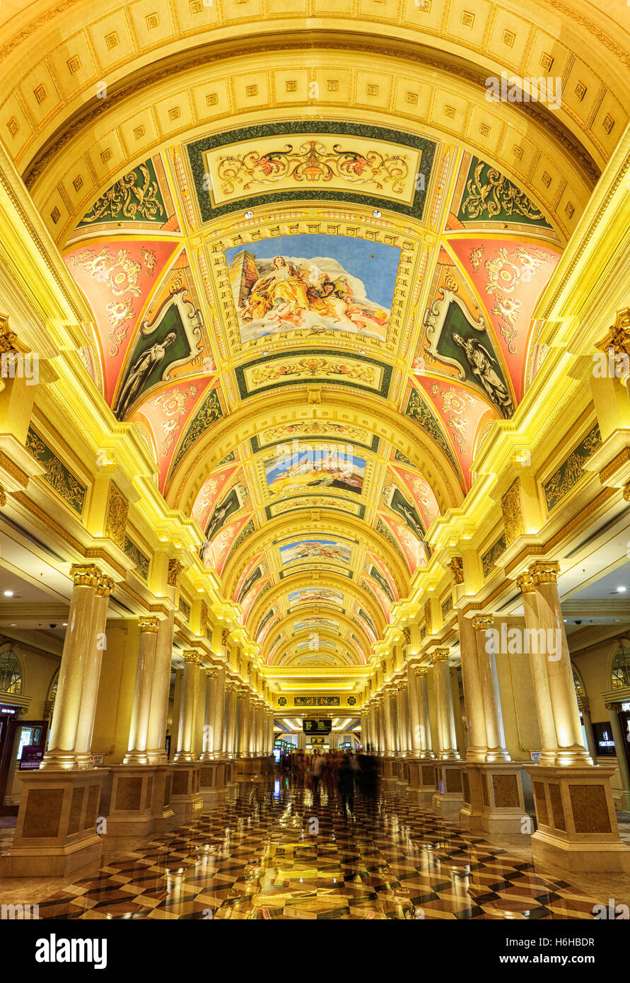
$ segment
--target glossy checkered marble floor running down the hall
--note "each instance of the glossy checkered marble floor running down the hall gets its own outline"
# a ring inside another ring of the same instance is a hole
[[[590,919],[599,901],[404,794],[351,815],[284,778],[240,789],[47,896],[39,917]]]

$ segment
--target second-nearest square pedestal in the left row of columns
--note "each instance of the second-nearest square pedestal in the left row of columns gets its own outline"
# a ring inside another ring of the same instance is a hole
[[[111,765],[101,810],[108,837],[147,837],[153,833],[154,765]]]

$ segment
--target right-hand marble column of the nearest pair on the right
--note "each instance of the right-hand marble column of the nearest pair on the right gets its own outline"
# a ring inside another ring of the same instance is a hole
[[[558,563],[535,563],[531,567],[537,593],[539,628],[544,631],[549,650],[546,671],[555,725],[557,765],[592,765],[582,738],[580,712],[573,682],[569,647],[557,588]],[[553,639],[553,645],[549,644]],[[559,643],[559,644],[558,644]]]

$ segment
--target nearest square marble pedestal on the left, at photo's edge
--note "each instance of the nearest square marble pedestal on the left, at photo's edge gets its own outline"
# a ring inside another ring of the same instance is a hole
[[[97,866],[101,785],[105,769],[21,774],[22,798],[13,844],[0,854],[0,877],[68,877]]]

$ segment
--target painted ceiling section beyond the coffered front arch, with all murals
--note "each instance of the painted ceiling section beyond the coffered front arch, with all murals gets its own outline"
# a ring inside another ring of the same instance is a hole
[[[562,246],[490,162],[321,121],[174,145],[76,226],[86,370],[267,665],[371,661],[542,364]]]

